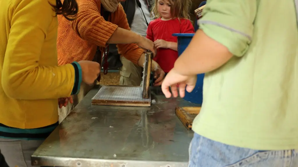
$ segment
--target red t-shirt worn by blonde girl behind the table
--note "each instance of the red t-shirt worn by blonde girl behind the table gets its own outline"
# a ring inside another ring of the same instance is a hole
[[[193,24],[188,19],[178,18],[163,21],[157,18],[149,23],[147,29],[147,38],[151,41],[165,40],[168,42],[177,42],[177,37],[173,37],[175,33],[195,33]],[[174,67],[174,63],[178,58],[178,52],[172,49],[159,48],[156,56],[153,58],[165,73],[170,72]]]

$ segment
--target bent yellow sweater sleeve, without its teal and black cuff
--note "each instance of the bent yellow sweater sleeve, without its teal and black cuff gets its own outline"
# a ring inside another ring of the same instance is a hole
[[[72,64],[59,67],[39,64],[43,57],[41,48],[49,35],[47,31],[55,19],[49,1],[22,0],[18,7],[11,8],[11,27],[1,73],[5,94],[23,100],[70,96],[75,81]]]

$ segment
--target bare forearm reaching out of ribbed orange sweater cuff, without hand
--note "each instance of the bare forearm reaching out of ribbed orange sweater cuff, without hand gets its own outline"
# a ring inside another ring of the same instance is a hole
[[[139,43],[142,36],[136,34],[133,31],[122,29],[117,27],[110,39],[107,41],[109,44],[130,44],[130,43]]]

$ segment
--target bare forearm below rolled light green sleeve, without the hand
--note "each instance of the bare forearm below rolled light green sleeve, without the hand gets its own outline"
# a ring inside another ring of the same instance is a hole
[[[221,67],[232,53],[221,43],[198,30],[185,51],[176,60],[174,68],[181,75],[207,73]]]

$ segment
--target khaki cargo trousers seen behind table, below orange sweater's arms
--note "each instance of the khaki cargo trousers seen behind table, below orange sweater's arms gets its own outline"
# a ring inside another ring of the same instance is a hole
[[[142,82],[142,67],[139,67],[126,59],[125,57],[120,57],[121,63],[120,67],[120,81],[119,85],[122,86],[140,86]]]

